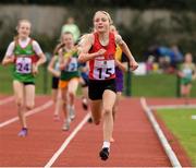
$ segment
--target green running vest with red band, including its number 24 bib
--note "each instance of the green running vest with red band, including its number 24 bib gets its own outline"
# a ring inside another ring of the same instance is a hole
[[[15,65],[13,69],[13,79],[20,82],[33,82],[35,83],[35,76],[33,75],[33,57],[35,51],[33,49],[32,39],[29,44],[22,48],[19,41],[15,41],[14,48]]]

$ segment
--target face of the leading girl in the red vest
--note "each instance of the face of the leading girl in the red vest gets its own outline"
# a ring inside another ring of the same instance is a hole
[[[102,12],[97,12],[94,16],[94,27],[99,33],[108,32],[110,27],[108,16]]]

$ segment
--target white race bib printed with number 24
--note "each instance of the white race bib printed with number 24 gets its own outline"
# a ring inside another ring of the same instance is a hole
[[[32,73],[32,59],[27,57],[20,57],[15,62],[16,72],[22,74]]]

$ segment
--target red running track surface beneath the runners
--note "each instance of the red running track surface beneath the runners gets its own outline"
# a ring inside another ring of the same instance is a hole
[[[0,125],[17,116],[13,100],[1,105],[5,98],[8,96],[0,96]],[[147,103],[150,106],[168,105],[171,100],[173,104],[182,104],[181,100],[161,98],[147,99]],[[193,103],[196,104],[196,100]],[[47,106],[39,110],[46,104]],[[0,167],[171,166],[142,108],[139,98],[122,98],[114,122],[115,142],[111,146],[110,158],[107,161],[98,157],[102,140],[101,124],[85,122],[87,113],[83,111],[79,99],[76,100],[77,116],[71,123],[69,132],[61,131],[62,120],[59,122],[52,120],[53,106],[50,97],[36,97],[36,113],[27,117],[29,127],[27,137],[17,136],[19,120],[0,127]],[[78,132],[75,131],[76,128]],[[73,139],[70,135],[73,135]],[[179,151],[179,153],[183,152]],[[187,159],[181,157],[182,155],[184,156],[184,154],[179,155],[182,166],[191,166]]]

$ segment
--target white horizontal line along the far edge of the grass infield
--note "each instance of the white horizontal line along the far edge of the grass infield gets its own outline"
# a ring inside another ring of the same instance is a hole
[[[196,108],[196,105],[189,104],[189,105],[155,105],[149,106],[150,109],[177,109],[177,108]]]

